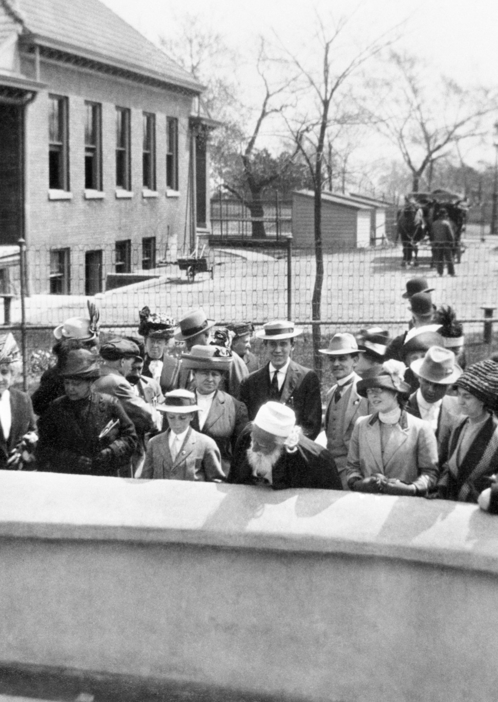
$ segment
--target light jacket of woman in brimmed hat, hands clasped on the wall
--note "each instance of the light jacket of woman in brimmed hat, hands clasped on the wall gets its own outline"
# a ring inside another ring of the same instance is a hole
[[[383,456],[379,414],[360,417],[349,442],[348,482],[352,477],[375,473],[414,483],[422,492],[435,485],[439,475],[438,444],[428,422],[402,411]]]

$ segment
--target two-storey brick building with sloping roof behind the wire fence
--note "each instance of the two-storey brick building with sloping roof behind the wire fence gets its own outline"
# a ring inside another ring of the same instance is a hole
[[[0,245],[32,293],[100,292],[206,230],[200,86],[98,0],[0,0]]]

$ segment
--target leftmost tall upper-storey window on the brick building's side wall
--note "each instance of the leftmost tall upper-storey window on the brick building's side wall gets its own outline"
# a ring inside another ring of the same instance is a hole
[[[69,190],[67,98],[48,95],[48,187]]]

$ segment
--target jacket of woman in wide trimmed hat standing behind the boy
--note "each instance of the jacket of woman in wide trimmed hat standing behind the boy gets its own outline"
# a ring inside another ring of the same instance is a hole
[[[221,390],[218,390],[213,398],[202,430],[199,429],[199,417],[197,412],[195,413],[192,428],[215,440],[221,453],[221,467],[225,475],[228,475],[230,470],[240,432],[248,422],[247,407],[244,403]]]

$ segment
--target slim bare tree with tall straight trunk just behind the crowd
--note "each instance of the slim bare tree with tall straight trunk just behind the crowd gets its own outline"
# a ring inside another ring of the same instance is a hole
[[[362,110],[353,107],[348,100],[348,84],[365,62],[386,48],[392,39],[391,32],[358,48],[353,55],[345,58],[343,37],[350,18],[341,18],[332,24],[325,23],[317,16],[317,34],[313,41],[313,61],[308,63],[299,55],[284,48],[288,60],[299,74],[306,104],[312,105],[301,119],[287,119],[287,125],[296,147],[303,154],[313,180],[314,200],[314,240],[315,240],[315,284],[311,301],[313,322],[313,358],[315,369],[322,367],[322,357],[318,353],[321,345],[321,307],[324,277],[322,241],[322,187],[324,183],[325,147],[327,135],[332,138],[332,126],[358,124],[362,121]],[[301,96],[301,102],[304,98]]]

